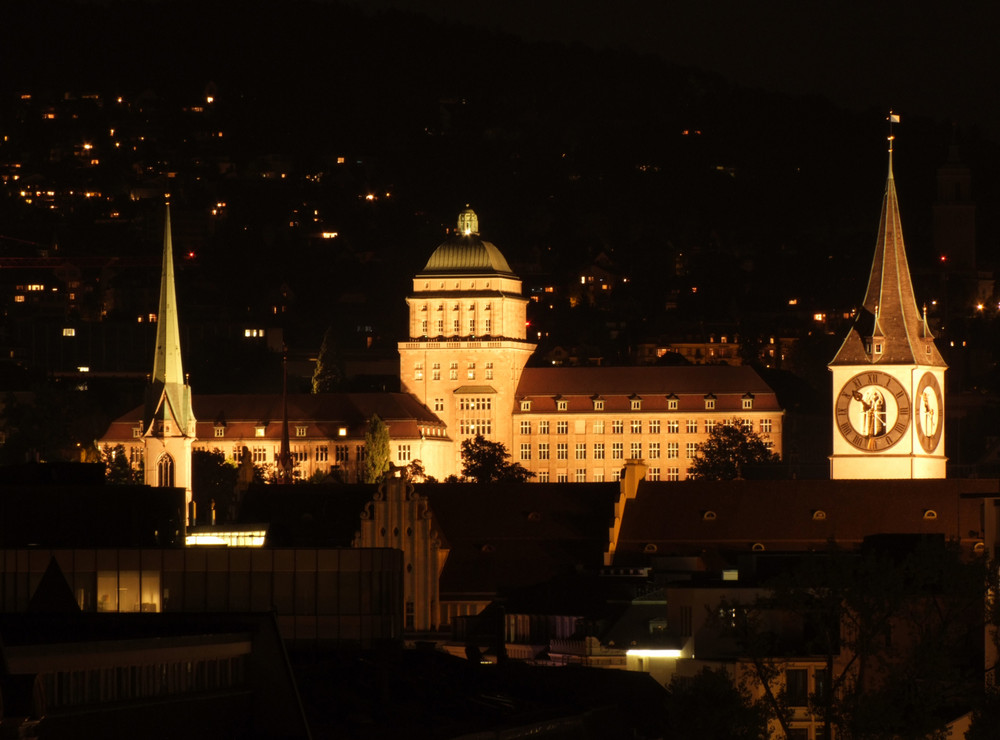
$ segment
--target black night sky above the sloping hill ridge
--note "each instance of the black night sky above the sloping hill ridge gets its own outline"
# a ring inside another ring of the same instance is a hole
[[[530,40],[630,48],[749,87],[954,120],[1000,138],[1000,5],[989,0],[348,2],[423,11]]]

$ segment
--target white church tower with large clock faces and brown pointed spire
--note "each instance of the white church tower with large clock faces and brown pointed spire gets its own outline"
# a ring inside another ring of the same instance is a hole
[[[890,120],[898,120],[890,115]],[[944,373],[926,308],[917,308],[892,175],[864,303],[830,362],[830,477],[944,478]]]

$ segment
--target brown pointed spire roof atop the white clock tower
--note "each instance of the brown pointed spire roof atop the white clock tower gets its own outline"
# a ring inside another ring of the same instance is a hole
[[[872,352],[872,344],[881,344],[882,352]],[[868,290],[851,331],[830,364],[866,363],[945,365],[913,292],[892,174],[891,148]]]

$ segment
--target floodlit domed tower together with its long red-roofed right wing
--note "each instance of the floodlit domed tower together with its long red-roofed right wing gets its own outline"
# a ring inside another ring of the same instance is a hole
[[[684,480],[697,445],[737,420],[781,453],[782,410],[749,367],[525,368],[526,299],[507,260],[478,235],[473,211],[414,278],[400,379],[461,442],[503,442],[539,482],[617,480],[625,461],[652,480]],[[427,467],[428,473],[438,472]]]

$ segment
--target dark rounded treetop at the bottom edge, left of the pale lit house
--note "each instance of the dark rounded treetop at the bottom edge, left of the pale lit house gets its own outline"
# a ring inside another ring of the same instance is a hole
[[[725,670],[703,668],[693,676],[674,676],[668,691],[667,721],[674,740],[768,737],[766,707]]]

